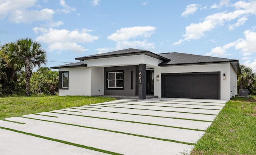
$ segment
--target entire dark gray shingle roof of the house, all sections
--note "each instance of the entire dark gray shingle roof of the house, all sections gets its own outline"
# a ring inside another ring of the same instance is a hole
[[[219,63],[230,63],[237,74],[241,74],[239,60],[227,59],[227,58],[217,58],[211,56],[200,56],[194,54],[184,54],[184,53],[163,53],[163,54],[155,54],[147,50],[139,50],[134,48],[128,48],[124,50],[118,50],[114,52],[107,52],[102,54],[95,54],[91,56],[84,56],[75,58],[76,60],[89,60],[89,59],[99,59],[99,58],[112,58],[118,56],[132,56],[145,54],[147,56],[151,56],[153,58],[157,58],[159,60],[163,60],[162,63],[158,64],[158,66],[183,66],[183,65],[192,65],[192,64],[219,64]],[[61,66],[52,67],[54,69],[59,68],[73,68],[73,67],[84,67],[87,64],[84,62],[76,62]]]

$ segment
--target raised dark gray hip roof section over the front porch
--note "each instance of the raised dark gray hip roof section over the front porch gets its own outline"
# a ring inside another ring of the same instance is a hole
[[[148,55],[153,58],[160,59],[160,60],[169,60],[168,58],[164,58],[164,57],[162,57],[158,54],[154,54],[150,51],[139,50],[139,49],[134,49],[134,48],[128,48],[125,50],[107,52],[107,53],[102,53],[102,54],[95,54],[95,55],[91,55],[91,56],[84,56],[84,57],[79,57],[79,58],[75,58],[75,59],[76,60],[89,60],[89,59],[110,58],[110,57],[118,57],[118,56],[132,56],[132,55],[139,55],[139,54],[145,54],[145,55]]]

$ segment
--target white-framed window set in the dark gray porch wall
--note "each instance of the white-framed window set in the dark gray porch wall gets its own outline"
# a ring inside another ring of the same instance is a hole
[[[107,89],[124,89],[124,71],[107,72]]]

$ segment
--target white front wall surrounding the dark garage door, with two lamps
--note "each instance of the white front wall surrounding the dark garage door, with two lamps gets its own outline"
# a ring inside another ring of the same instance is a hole
[[[230,64],[207,64],[207,65],[191,65],[191,66],[167,66],[155,67],[155,76],[159,75],[159,81],[154,78],[154,95],[161,96],[161,74],[162,73],[189,73],[189,72],[220,72],[220,99],[230,99]],[[226,80],[222,79],[222,75],[226,74]]]

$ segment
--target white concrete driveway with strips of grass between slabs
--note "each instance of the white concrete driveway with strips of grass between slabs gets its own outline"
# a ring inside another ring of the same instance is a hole
[[[115,100],[0,120],[0,155],[188,154],[226,101]]]

